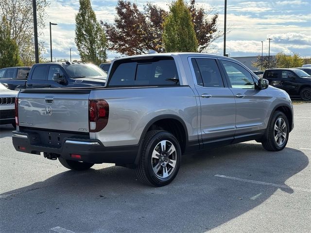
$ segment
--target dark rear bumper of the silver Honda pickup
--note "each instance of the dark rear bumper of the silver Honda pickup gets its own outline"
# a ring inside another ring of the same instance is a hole
[[[17,151],[40,154],[40,152],[59,154],[67,160],[83,161],[94,164],[115,163],[133,164],[138,154],[138,145],[104,147],[96,139],[65,138],[59,147],[49,147],[31,143],[30,133],[12,132],[13,145]],[[81,155],[81,159],[71,158],[71,154]]]

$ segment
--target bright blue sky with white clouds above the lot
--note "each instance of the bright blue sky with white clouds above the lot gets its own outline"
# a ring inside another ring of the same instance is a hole
[[[130,0],[142,9],[146,2],[151,2],[169,10],[171,0]],[[225,0],[196,0],[198,6],[206,11],[210,8],[219,14],[218,29],[224,30]],[[113,23],[116,15],[117,0],[91,0],[97,20]],[[72,60],[79,59],[75,37],[75,15],[79,9],[79,0],[51,0],[45,17],[46,28],[44,36],[39,39],[44,42],[46,53],[50,57],[49,22],[52,25],[52,57],[69,59],[69,48]],[[227,30],[226,53],[230,57],[256,56],[277,52],[286,54],[299,53],[302,57],[311,56],[311,0],[227,0]],[[212,44],[212,52],[222,55],[224,41],[221,38]],[[120,54],[108,51],[108,59],[112,60]]]

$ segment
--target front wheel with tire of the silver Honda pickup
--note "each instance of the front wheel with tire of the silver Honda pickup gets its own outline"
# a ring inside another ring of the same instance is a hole
[[[286,147],[289,136],[289,123],[283,112],[276,111],[268,123],[267,136],[261,144],[269,151],[279,151]]]

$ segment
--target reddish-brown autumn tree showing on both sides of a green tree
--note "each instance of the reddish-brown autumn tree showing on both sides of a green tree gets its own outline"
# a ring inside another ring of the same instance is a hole
[[[199,8],[195,0],[187,6],[198,39],[198,51],[206,51],[212,41],[223,34],[217,31],[218,14],[210,17],[212,9]],[[114,23],[101,21],[107,38],[109,49],[124,55],[147,53],[149,49],[165,52],[163,46],[163,23],[168,12],[160,7],[147,3],[139,10],[136,3],[118,0],[117,16]]]

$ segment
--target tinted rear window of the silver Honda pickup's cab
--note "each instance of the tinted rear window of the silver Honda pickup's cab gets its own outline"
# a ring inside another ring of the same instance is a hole
[[[175,61],[172,57],[147,60],[128,60],[112,70],[109,86],[175,86],[179,85]]]

